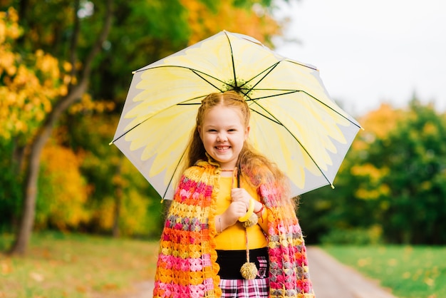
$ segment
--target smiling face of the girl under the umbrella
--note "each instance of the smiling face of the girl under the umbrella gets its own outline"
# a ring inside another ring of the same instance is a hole
[[[198,131],[207,154],[223,169],[234,169],[249,134],[249,126],[244,127],[241,113],[236,108],[214,106],[204,114]]]

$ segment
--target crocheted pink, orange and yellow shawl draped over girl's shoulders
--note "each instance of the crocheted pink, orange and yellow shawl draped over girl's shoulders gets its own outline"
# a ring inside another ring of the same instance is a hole
[[[221,296],[214,241],[217,169],[202,161],[182,175],[160,240],[153,297]],[[273,183],[257,189],[270,210],[269,297],[314,297],[301,227],[278,191]]]

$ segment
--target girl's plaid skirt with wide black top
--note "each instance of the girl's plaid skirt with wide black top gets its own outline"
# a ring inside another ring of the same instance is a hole
[[[249,262],[256,264],[255,279],[244,279],[240,268],[247,262],[246,250],[217,250],[222,298],[261,298],[269,294],[267,247],[249,250]]]

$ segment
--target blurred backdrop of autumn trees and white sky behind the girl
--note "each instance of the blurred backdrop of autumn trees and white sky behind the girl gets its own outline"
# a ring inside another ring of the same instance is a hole
[[[1,251],[26,255],[45,232],[157,240],[165,204],[108,143],[132,71],[222,30],[318,67],[365,128],[336,188],[301,195],[307,244],[445,245],[445,10],[440,0],[0,0]]]

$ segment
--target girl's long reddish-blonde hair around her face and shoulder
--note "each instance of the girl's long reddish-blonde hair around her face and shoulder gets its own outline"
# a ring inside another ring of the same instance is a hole
[[[240,93],[237,93],[236,91],[226,91],[223,93],[209,94],[202,100],[202,105],[197,112],[195,128],[192,130],[190,142],[187,147],[185,169],[195,165],[199,160],[208,160],[202,139],[199,137],[198,128],[203,123],[204,115],[206,115],[211,108],[219,105],[237,109],[244,127],[248,127],[251,112],[247,102]],[[289,197],[289,180],[286,178],[286,175],[284,175],[275,163],[254,150],[249,143],[249,140],[244,141],[242,151],[237,160],[237,165],[239,170],[241,170],[241,175],[249,178],[245,180],[251,183],[254,187],[259,186],[261,183],[274,183],[276,187],[279,187],[282,190],[282,200],[287,200]]]

